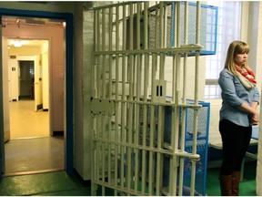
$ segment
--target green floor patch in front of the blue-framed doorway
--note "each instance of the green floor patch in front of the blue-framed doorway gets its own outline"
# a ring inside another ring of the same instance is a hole
[[[89,196],[90,187],[84,187],[76,176],[56,171],[5,177],[0,181],[0,195]]]

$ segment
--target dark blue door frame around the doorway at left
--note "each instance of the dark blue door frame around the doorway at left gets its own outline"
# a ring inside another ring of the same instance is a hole
[[[73,14],[55,13],[47,11],[31,11],[17,9],[0,9],[2,16],[25,16],[65,20],[65,171],[72,174],[74,171],[73,157]],[[0,44],[2,46],[2,27],[0,27]],[[0,47],[2,59],[2,47]],[[0,61],[0,180],[5,166],[5,141],[4,139],[4,111],[3,111],[3,70]]]

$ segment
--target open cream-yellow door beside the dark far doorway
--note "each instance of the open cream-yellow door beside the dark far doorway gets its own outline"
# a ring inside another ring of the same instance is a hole
[[[35,56],[35,111],[43,109],[42,69],[39,56]]]

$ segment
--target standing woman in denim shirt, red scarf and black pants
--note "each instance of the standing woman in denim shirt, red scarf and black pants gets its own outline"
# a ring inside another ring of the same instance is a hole
[[[221,195],[238,195],[241,163],[251,139],[252,125],[258,124],[259,94],[254,72],[247,66],[249,47],[242,41],[227,49],[218,84],[222,89],[219,132],[223,143],[220,170]]]

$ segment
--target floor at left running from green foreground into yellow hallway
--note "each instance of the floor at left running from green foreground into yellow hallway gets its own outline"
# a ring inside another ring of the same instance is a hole
[[[48,111],[35,112],[34,102],[9,102],[11,139],[5,143],[0,195],[90,195],[76,174],[64,171],[64,136],[50,137]]]

